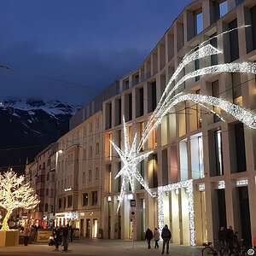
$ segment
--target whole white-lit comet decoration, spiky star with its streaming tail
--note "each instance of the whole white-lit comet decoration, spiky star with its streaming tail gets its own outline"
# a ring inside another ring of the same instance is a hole
[[[234,30],[244,29],[245,27],[250,26],[239,26],[234,29],[231,29],[226,32],[222,32],[217,36],[212,38],[219,38],[226,33],[232,32]],[[137,172],[137,164],[145,159],[149,154],[152,152],[148,152],[146,154],[140,154],[143,145],[147,142],[148,137],[154,131],[154,129],[160,125],[161,120],[171,111],[171,108],[175,107],[179,102],[185,101],[192,101],[196,104],[201,105],[203,108],[207,108],[211,113],[216,114],[222,121],[224,121],[221,114],[216,113],[212,110],[212,106],[220,108],[221,110],[225,111],[226,113],[230,113],[235,119],[240,120],[244,125],[252,129],[256,129],[256,114],[252,113],[250,110],[246,108],[241,108],[232,102],[228,102],[227,100],[213,97],[213,96],[205,96],[205,95],[196,95],[190,93],[177,93],[180,85],[182,85],[188,79],[193,79],[197,76],[209,75],[212,73],[253,73],[256,74],[256,63],[252,62],[241,62],[241,63],[224,63],[213,65],[210,67],[202,67],[197,69],[193,72],[186,73],[183,75],[181,79],[178,79],[178,74],[183,71],[185,67],[188,66],[189,63],[196,60],[201,60],[202,58],[209,57],[211,55],[218,55],[223,53],[222,50],[217,49],[212,46],[210,40],[212,38],[207,39],[206,41],[202,42],[198,47],[191,49],[186,55],[184,55],[183,60],[179,63],[177,69],[172,74],[171,79],[169,80],[168,84],[166,84],[166,89],[164,90],[162,96],[160,97],[160,102],[158,102],[156,108],[154,109],[154,113],[148,119],[148,123],[145,126],[141,140],[138,143],[136,149],[136,141],[137,141],[137,134],[134,137],[132,146],[130,147],[128,133],[125,128],[125,121],[124,121],[124,133],[125,133],[125,152],[121,151],[113,142],[113,148],[118,152],[120,155],[121,160],[124,163],[124,167],[118,173],[116,177],[123,175],[122,180],[122,187],[119,196],[119,207],[125,195],[125,188],[126,184],[131,184],[131,189],[134,191],[133,186],[133,177],[136,177],[137,180],[144,186],[144,188],[148,191],[149,195],[153,196],[153,194],[148,189],[148,184],[145,183],[143,177]],[[208,106],[209,107],[208,107]],[[116,178],[115,177],[115,178]],[[118,210],[119,210],[118,207]],[[192,221],[192,220],[191,220]],[[195,230],[193,231],[195,232]],[[194,234],[195,235],[195,234]]]

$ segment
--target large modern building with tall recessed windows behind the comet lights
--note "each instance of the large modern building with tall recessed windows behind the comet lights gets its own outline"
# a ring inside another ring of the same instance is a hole
[[[143,240],[146,228],[158,227],[158,197],[152,198],[136,182],[117,212],[122,167],[109,139],[124,147],[122,117],[129,137],[141,135],[160,101],[166,84],[183,56],[201,42],[223,50],[219,55],[193,61],[185,73],[211,65],[256,61],[256,5],[253,0],[198,0],[177,16],[172,26],[140,67],[119,80],[119,94],[103,103],[102,230],[104,238]],[[221,37],[215,35],[234,30]],[[176,81],[177,82],[177,81]],[[212,73],[189,79],[177,92],[221,97],[255,113],[255,75]],[[160,186],[193,179],[195,241],[218,238],[221,226],[232,225],[247,244],[256,236],[256,132],[218,108],[225,119],[194,102],[179,103],[150,135],[143,150],[154,150],[138,169],[157,194]],[[131,141],[130,141],[131,142]],[[137,141],[138,143],[138,141]],[[157,195],[158,196],[158,195]],[[136,218],[131,220],[131,199]],[[176,189],[163,195],[164,221],[172,230],[172,242],[189,245],[189,195]]]

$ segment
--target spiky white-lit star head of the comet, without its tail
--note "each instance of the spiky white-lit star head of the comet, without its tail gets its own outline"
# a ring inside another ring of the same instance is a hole
[[[110,143],[112,143],[113,148],[116,150],[116,152],[119,154],[120,159],[122,160],[124,166],[119,171],[119,173],[114,178],[118,178],[119,176],[122,176],[122,186],[121,191],[119,195],[119,205],[117,208],[117,212],[119,211],[119,207],[121,206],[121,203],[124,199],[125,191],[127,189],[127,185],[130,183],[131,185],[131,191],[134,193],[134,178],[137,179],[139,183],[143,185],[143,187],[148,191],[149,195],[154,196],[150,189],[148,188],[148,183],[146,183],[140,174],[140,172],[137,170],[137,165],[148,157],[149,154],[151,154],[153,151],[149,151],[147,153],[137,153],[136,143],[137,143],[137,134],[133,138],[133,142],[130,145],[129,142],[129,136],[127,127],[125,125],[125,118],[123,118],[124,121],[124,137],[125,137],[125,150],[122,151],[121,148],[119,148],[113,141],[109,140]]]

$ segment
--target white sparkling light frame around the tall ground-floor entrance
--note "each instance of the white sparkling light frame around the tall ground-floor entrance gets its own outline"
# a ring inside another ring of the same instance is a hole
[[[195,246],[195,211],[194,211],[194,193],[193,193],[193,179],[182,181],[179,183],[172,183],[166,186],[158,187],[158,225],[159,229],[164,228],[164,199],[163,194],[177,189],[186,189],[189,195],[189,235],[190,245]]]

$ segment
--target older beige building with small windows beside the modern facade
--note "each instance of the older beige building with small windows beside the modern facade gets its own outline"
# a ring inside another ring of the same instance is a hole
[[[55,224],[72,224],[80,236],[102,227],[102,111],[58,140],[55,162]]]

